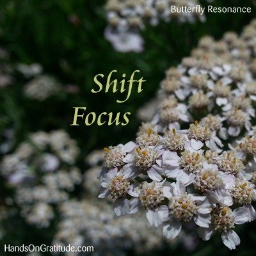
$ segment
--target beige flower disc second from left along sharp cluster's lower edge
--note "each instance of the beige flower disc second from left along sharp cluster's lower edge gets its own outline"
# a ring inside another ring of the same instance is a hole
[[[153,209],[164,200],[163,188],[155,181],[151,183],[142,182],[138,191],[140,202],[144,209]]]

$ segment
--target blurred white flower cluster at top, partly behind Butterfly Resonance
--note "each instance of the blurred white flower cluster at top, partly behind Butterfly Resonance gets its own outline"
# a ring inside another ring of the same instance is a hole
[[[171,12],[171,6],[195,8],[199,4],[198,0],[108,0],[105,8],[109,25],[105,30],[105,38],[111,42],[115,51],[141,52],[143,38],[140,30],[145,29],[147,24],[157,26],[160,20],[204,22],[205,15],[200,12]]]

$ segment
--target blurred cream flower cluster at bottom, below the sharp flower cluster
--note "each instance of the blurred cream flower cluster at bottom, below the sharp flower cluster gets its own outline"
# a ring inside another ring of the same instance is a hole
[[[53,244],[83,246],[91,244],[97,248],[96,255],[127,255],[132,250],[136,254],[163,250],[182,243],[187,250],[194,250],[196,237],[189,232],[170,241],[161,235],[161,230],[152,230],[142,212],[116,218],[113,213],[113,199],[99,202],[99,180],[104,150],[95,150],[86,157],[91,168],[84,172],[83,199],[71,199],[60,204],[60,222]],[[74,253],[66,255],[74,255]]]

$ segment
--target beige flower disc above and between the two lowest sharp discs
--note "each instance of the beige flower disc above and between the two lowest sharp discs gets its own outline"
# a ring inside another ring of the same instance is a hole
[[[216,169],[206,169],[196,173],[194,181],[195,189],[205,193],[214,190],[222,184],[219,171]]]

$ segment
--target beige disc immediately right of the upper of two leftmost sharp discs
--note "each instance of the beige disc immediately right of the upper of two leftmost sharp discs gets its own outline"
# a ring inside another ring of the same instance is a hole
[[[145,171],[156,163],[157,152],[150,147],[136,148],[134,164],[139,170]]]

